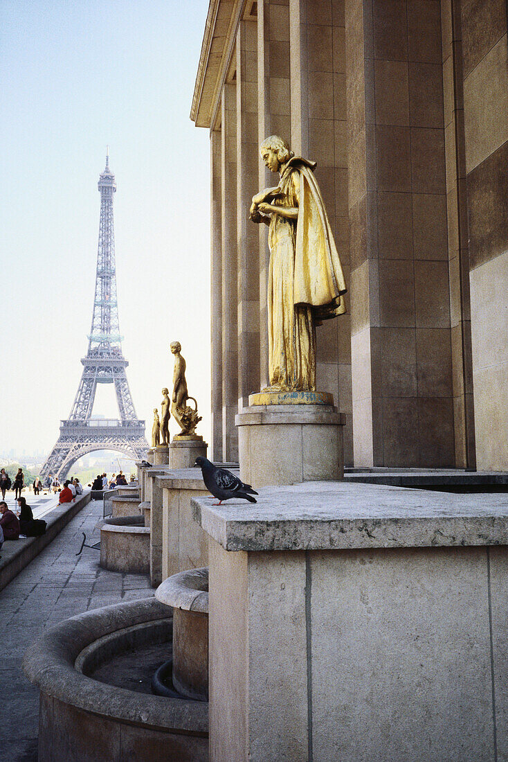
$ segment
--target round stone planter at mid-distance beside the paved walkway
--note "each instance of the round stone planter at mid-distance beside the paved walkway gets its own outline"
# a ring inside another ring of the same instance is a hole
[[[123,516],[106,522],[101,527],[101,567],[149,574],[150,527],[145,527],[144,517]]]

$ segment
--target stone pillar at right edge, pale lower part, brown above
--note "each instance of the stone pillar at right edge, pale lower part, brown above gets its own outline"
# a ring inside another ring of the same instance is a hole
[[[462,2],[461,8],[476,460],[478,469],[503,470],[508,468],[506,2]]]

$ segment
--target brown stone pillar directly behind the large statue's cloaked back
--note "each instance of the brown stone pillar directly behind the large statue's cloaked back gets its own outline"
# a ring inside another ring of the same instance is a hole
[[[347,286],[350,282],[347,209],[346,51],[343,3],[290,0],[291,146],[318,162],[321,188]],[[344,416],[344,462],[353,465],[351,341],[347,314],[318,326],[317,387],[331,392]]]

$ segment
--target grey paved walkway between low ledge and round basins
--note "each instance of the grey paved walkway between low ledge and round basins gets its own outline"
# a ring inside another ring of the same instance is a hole
[[[95,529],[102,501],[91,501],[40,555],[0,591],[0,762],[37,760],[39,691],[21,661],[43,629],[69,616],[153,594],[148,575],[120,574],[99,566],[99,551],[81,546],[100,539]]]

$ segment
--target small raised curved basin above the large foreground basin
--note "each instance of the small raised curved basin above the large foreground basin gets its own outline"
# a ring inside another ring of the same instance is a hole
[[[208,568],[179,571],[155,591],[173,607],[174,687],[183,696],[208,700]]]

